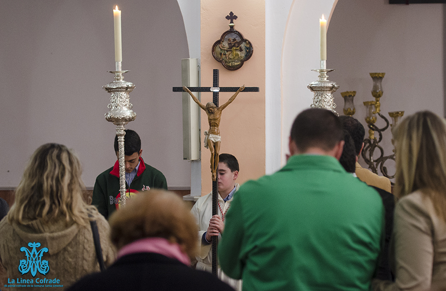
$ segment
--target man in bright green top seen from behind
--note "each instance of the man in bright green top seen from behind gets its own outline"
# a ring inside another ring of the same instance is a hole
[[[333,112],[301,112],[286,165],[234,195],[219,260],[225,274],[243,279],[244,291],[369,290],[383,203],[339,164],[342,138]]]

